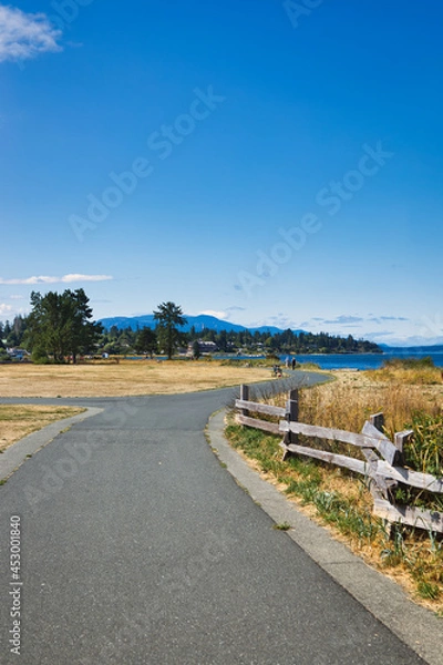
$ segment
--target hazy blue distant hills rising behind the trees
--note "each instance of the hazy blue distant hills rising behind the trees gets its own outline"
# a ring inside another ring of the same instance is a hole
[[[282,332],[281,328],[276,328],[275,326],[260,326],[258,328],[247,328],[246,326],[239,326],[238,324],[231,324],[230,321],[224,321],[218,319],[215,316],[208,316],[206,314],[200,314],[198,316],[187,316],[186,326],[183,326],[183,330],[188,332],[190,328],[194,326],[197,332],[203,332],[204,330],[215,330],[219,332],[220,330],[226,330],[228,332],[240,332],[241,330],[249,330],[250,332],[267,332],[269,331],[271,335],[276,332]],[[131,328],[132,330],[136,330],[137,328],[155,328],[156,320],[154,319],[153,314],[145,314],[142,316],[114,316],[109,318],[100,319],[100,323],[106,330],[110,330],[112,326],[116,326],[119,330],[123,330],[124,328]],[[299,332],[306,332],[306,330],[293,330],[296,335]]]

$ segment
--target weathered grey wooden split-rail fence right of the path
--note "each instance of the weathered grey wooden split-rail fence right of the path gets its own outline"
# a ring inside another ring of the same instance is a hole
[[[382,431],[383,413],[370,416],[361,433],[299,422],[298,390],[289,392],[284,408],[250,401],[249,386],[240,386],[240,399],[236,400],[235,407],[237,422],[272,434],[282,434],[280,446],[284,450],[284,460],[293,454],[308,457],[364,475],[373,498],[373,513],[377,516],[391,524],[401,523],[443,533],[442,512],[400,505],[392,501],[393,490],[399,484],[443,494],[443,478],[413,471],[403,466],[403,444],[413,434],[412,430],[398,432],[392,442]],[[270,422],[253,418],[249,413],[275,416],[281,420]],[[299,446],[299,434],[356,446],[361,450],[364,460]]]

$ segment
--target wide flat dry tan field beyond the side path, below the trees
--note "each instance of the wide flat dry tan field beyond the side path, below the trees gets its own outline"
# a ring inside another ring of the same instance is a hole
[[[268,380],[269,368],[219,361],[126,360],[119,365],[0,365],[0,397],[120,397],[195,392]]]

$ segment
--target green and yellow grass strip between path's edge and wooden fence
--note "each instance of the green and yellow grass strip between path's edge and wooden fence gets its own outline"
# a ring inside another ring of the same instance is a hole
[[[308,516],[443,617],[443,542],[401,528],[390,538],[383,520],[371,514],[372,498],[361,479],[300,458],[282,462],[279,437],[233,423],[225,433],[230,444]]]

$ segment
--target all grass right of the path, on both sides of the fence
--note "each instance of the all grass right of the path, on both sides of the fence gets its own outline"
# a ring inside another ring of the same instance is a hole
[[[416,371],[416,367],[411,368]],[[427,368],[424,368],[427,370]],[[401,368],[404,371],[404,368]],[[439,370],[440,371],[440,370]],[[422,376],[422,375],[421,375]],[[441,385],[423,385],[410,377],[401,382],[391,371],[337,372],[337,380],[300,391],[300,421],[349,431],[360,431],[369,415],[383,411],[387,433],[414,429],[406,459],[420,471],[443,474]],[[266,401],[284,406],[287,395],[268,396]],[[226,436],[262,477],[297,502],[310,518],[327,526],[367,563],[400,582],[421,604],[443,616],[443,541],[419,529],[394,526],[372,515],[372,497],[363,478],[317,461],[289,458],[282,462],[280,437],[229,422]],[[302,438],[301,438],[302,439]],[[309,441],[309,442],[308,442]],[[300,441],[303,444],[303,441]],[[359,456],[354,447],[307,439],[306,444],[332,452]],[[343,448],[346,450],[343,450]],[[409,456],[409,457],[408,457]],[[403,490],[399,489],[398,492]],[[442,510],[440,495],[423,492],[398,495],[399,502]]]

